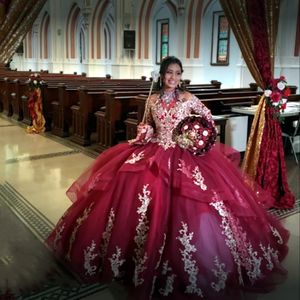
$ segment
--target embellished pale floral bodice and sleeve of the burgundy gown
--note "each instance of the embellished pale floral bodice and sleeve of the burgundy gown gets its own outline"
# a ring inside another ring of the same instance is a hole
[[[175,147],[176,143],[172,140],[173,130],[191,113],[203,115],[208,120],[212,119],[210,110],[196,96],[184,92],[178,98],[166,104],[157,96],[156,101],[153,101],[150,107],[156,128],[156,134],[151,141],[158,143],[164,149]]]

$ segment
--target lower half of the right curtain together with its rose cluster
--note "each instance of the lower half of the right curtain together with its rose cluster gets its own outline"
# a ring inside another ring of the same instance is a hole
[[[276,208],[292,208],[295,203],[286,177],[280,126],[289,95],[284,76],[270,81],[260,99],[242,163],[242,169],[272,194]]]

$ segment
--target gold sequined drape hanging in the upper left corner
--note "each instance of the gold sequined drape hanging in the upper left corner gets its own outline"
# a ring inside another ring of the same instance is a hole
[[[31,29],[47,0],[11,0],[0,22],[0,64],[6,63]]]

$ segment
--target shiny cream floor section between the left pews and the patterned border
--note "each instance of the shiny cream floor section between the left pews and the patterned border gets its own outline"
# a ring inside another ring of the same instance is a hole
[[[42,214],[56,223],[70,205],[68,186],[88,166],[92,158],[46,138],[27,134],[25,129],[0,119],[1,181],[7,181]]]

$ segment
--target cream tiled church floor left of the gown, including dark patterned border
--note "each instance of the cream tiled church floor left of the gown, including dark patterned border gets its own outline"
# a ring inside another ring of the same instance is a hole
[[[113,300],[106,285],[79,283],[42,243],[71,204],[66,189],[93,158],[3,116],[0,132],[0,299]]]

